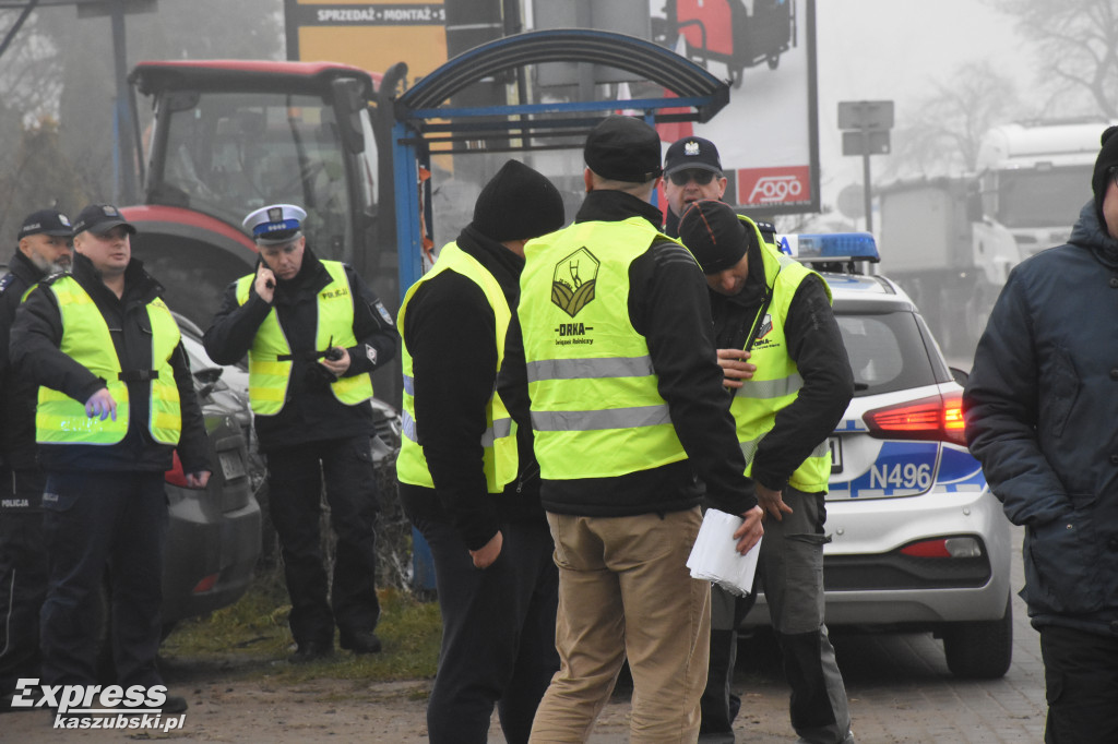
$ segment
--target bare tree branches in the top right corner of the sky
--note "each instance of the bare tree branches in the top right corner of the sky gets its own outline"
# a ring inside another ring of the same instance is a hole
[[[1118,0],[986,0],[1035,42],[1050,108],[1118,118]]]

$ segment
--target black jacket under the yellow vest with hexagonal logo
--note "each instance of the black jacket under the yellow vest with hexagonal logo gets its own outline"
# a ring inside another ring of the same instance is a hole
[[[643,217],[659,230],[662,214],[632,194],[591,191],[575,222]],[[549,512],[625,516],[691,508],[704,493],[731,514],[757,505],[735,437],[729,401],[717,363],[707,284],[690,252],[657,236],[629,266],[627,312],[644,336],[676,436],[688,458],[616,477],[543,479],[540,499]],[[509,327],[499,388],[513,418],[530,427],[523,342],[517,317]],[[608,457],[603,452],[603,457]],[[701,476],[700,480],[698,476]]]

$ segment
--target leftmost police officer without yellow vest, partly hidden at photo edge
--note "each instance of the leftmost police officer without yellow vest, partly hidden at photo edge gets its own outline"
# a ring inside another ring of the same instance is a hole
[[[69,268],[73,237],[61,212],[28,214],[8,274],[0,278],[0,713],[20,677],[39,676],[39,610],[47,595],[39,513],[46,476],[35,461],[36,385],[10,369],[8,342],[23,294]]]

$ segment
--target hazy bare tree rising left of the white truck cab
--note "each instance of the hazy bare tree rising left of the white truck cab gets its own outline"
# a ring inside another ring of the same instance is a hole
[[[967,63],[936,83],[915,115],[900,117],[883,175],[958,175],[975,170],[978,147],[994,124],[1013,118],[1013,82],[988,61]]]

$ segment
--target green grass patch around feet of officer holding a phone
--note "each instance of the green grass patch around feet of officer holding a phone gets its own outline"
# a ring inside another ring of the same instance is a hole
[[[306,665],[291,665],[293,639],[287,627],[286,592],[255,582],[236,603],[208,618],[182,622],[163,642],[161,654],[176,664],[192,660],[220,664],[246,676],[268,676],[284,681],[334,677],[366,681],[398,681],[435,676],[442,620],[437,602],[420,602],[406,591],[383,589],[377,635],[380,654],[356,656],[339,650],[334,657]]]

